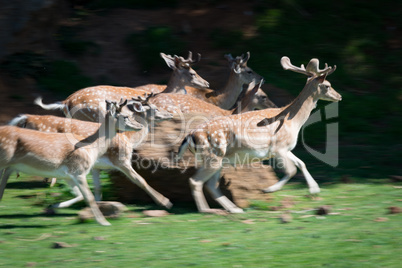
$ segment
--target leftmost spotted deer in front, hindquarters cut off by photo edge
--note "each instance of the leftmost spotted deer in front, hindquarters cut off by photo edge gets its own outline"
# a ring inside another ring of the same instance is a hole
[[[86,176],[104,155],[118,131],[139,131],[144,126],[124,115],[127,101],[107,102],[107,114],[99,129],[82,137],[66,133],[44,133],[15,126],[0,127],[0,174],[12,171],[65,179],[76,186],[90,206],[96,221],[110,225],[89,190]]]

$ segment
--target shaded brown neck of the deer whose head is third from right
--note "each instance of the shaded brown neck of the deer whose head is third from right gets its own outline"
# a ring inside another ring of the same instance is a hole
[[[236,100],[242,90],[243,83],[232,71],[225,86],[222,89],[215,91],[215,105],[221,107],[222,109],[231,109],[236,103]]]

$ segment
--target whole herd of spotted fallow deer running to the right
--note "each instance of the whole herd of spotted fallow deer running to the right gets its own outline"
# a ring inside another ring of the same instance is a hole
[[[209,120],[187,133],[177,159],[189,149],[203,163],[189,178],[200,212],[213,212],[204,196],[204,186],[226,211],[243,212],[222,194],[219,180],[224,163],[236,165],[244,159],[251,163],[275,158],[283,163],[285,176],[264,192],[280,190],[296,174],[296,167],[302,171],[310,193],[320,192],[303,161],[291,151],[317,101],[341,100],[326,80],[336,66],[325,64],[319,69],[318,59],[311,59],[306,67],[297,67],[288,57],[282,57],[282,67],[306,75],[307,82],[295,100],[277,108],[261,89],[263,77],[247,66],[249,52],[236,58],[225,55],[230,75],[221,89],[209,89],[209,83],[192,68],[200,54],[196,60],[191,52],[187,59],[160,55],[173,70],[167,85],[94,86],[53,104],[44,104],[38,98],[37,105],[61,110],[66,117],[22,114],[0,126],[0,199],[13,172],[64,179],[75,197],[54,207],[85,200],[95,220],[110,225],[96,203],[102,198],[99,172],[117,169],[158,205],[170,208],[170,200],[133,169],[132,153],[146,139],[151,122],[191,113],[205,114]],[[87,183],[90,172],[94,194]]]

